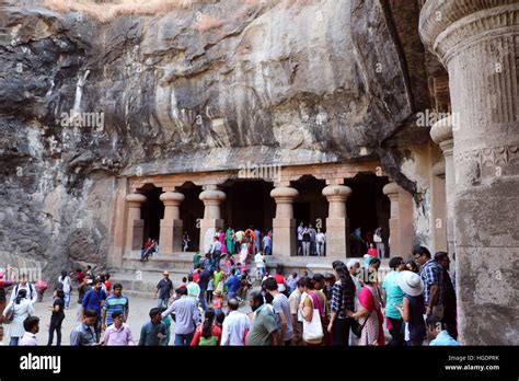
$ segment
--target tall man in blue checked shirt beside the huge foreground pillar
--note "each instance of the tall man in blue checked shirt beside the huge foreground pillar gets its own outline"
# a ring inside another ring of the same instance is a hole
[[[415,262],[420,265],[419,276],[424,282],[424,302],[426,315],[443,319],[443,272],[438,263],[430,257],[424,246],[413,250]]]

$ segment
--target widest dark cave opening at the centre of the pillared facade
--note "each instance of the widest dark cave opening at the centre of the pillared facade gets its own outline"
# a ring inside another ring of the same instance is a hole
[[[274,188],[264,180],[228,180],[221,185],[226,193],[222,204],[224,230],[231,227],[235,231],[254,227],[264,234],[272,229],[276,215],[276,203],[270,197]]]

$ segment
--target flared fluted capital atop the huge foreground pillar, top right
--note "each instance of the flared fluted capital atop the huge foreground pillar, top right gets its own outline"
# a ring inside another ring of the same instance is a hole
[[[422,9],[419,34],[424,44],[448,65],[464,47],[509,33],[518,26],[516,0],[429,0]]]

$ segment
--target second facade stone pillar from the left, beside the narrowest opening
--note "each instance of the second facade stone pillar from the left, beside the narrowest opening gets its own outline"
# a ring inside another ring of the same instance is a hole
[[[160,252],[165,254],[182,251],[182,228],[180,205],[185,199],[178,192],[166,192],[160,195],[164,204],[164,218],[160,221]]]

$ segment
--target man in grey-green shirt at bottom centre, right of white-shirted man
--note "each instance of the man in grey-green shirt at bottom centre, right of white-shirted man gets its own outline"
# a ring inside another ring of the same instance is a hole
[[[279,345],[281,342],[279,326],[273,310],[264,302],[263,295],[260,291],[251,292],[249,302],[253,311],[253,321],[246,336],[246,345]]]

